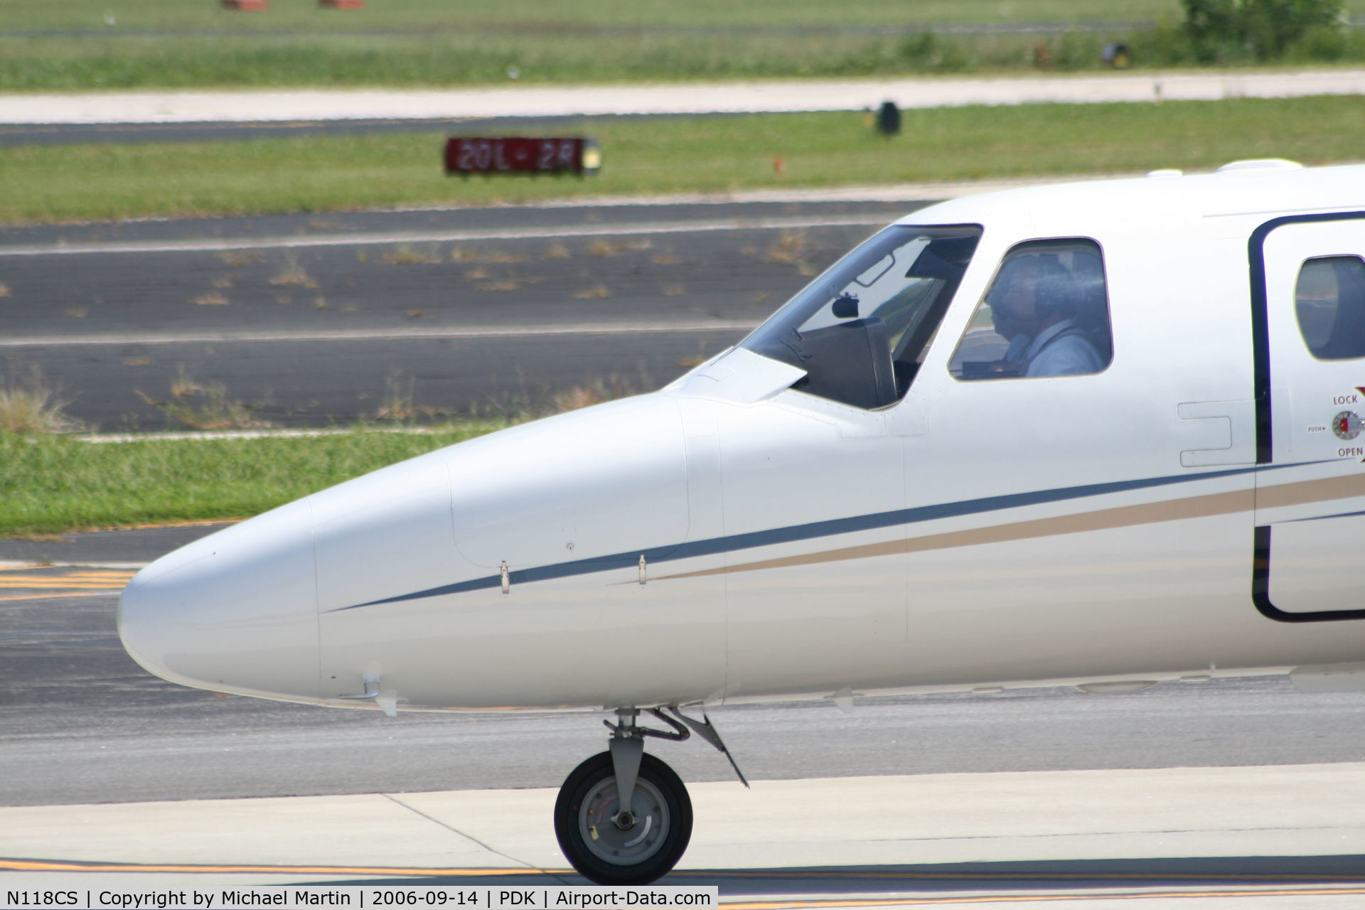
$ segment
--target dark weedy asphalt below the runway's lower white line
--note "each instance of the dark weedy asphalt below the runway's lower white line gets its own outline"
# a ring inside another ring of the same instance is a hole
[[[7,353],[42,364],[44,375],[60,378],[64,393],[74,389],[67,412],[86,424],[154,431],[190,428],[167,416],[164,409],[175,404],[214,412],[214,386],[246,405],[253,420],[273,427],[347,426],[381,411],[411,411],[422,420],[542,413],[557,393],[572,389],[650,392],[743,336],[53,345]],[[199,390],[176,397],[172,383],[182,368]],[[390,407],[393,396],[397,408]]]

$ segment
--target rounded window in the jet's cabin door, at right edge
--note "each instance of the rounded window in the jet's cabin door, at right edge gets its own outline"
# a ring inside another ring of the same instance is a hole
[[[1365,261],[1309,259],[1298,273],[1294,311],[1304,342],[1319,360],[1365,357]]]

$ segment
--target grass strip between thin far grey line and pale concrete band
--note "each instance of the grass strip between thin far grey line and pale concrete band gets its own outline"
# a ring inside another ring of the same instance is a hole
[[[1158,34],[1158,33],[1153,33]],[[1164,33],[1160,33],[1164,35]],[[1365,59],[1343,33],[1330,63]],[[0,38],[0,91],[236,87],[450,87],[693,79],[1072,72],[1103,68],[1111,41],[1143,42],[1148,65],[1192,65],[1175,38],[1118,34],[870,35],[860,31],[557,35],[302,34],[258,37]],[[1163,48],[1158,53],[1158,44]],[[1316,46],[1316,45],[1314,45]],[[1037,50],[1037,48],[1043,48]],[[1174,53],[1174,56],[1173,56]],[[1039,57],[1041,55],[1041,57]],[[1309,55],[1321,65],[1321,53]],[[1046,60],[1039,65],[1035,60]],[[1289,60],[1287,63],[1297,63]],[[1226,61],[1254,65],[1252,59]]]

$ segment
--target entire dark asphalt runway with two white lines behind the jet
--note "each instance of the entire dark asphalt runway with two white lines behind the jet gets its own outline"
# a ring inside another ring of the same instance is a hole
[[[281,427],[373,419],[394,390],[423,419],[538,408],[576,387],[647,392],[741,338],[915,207],[494,207],[4,228],[0,356],[11,379],[37,368],[71,416],[105,431],[187,428],[167,405],[202,408],[214,390]],[[760,220],[815,226],[741,226]],[[423,240],[450,232],[534,236]],[[328,246],[281,246],[300,240]],[[162,248],[183,241],[233,248]],[[94,247],[59,252],[83,244]],[[98,251],[108,244],[147,247]]]

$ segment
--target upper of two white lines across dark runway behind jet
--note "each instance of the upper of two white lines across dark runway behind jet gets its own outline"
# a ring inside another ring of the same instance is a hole
[[[890,224],[885,216],[820,216],[801,218],[725,218],[719,221],[662,221],[599,224],[554,228],[502,228],[491,231],[393,231],[373,233],[325,233],[295,237],[235,237],[228,240],[146,240],[138,243],[70,243],[0,247],[0,256],[70,256],[113,252],[225,252],[229,250],[296,250],[302,247],[355,247],[392,243],[471,243],[475,240],[545,240],[551,237],[605,237],[620,235],[708,233],[715,231],[796,231]]]

